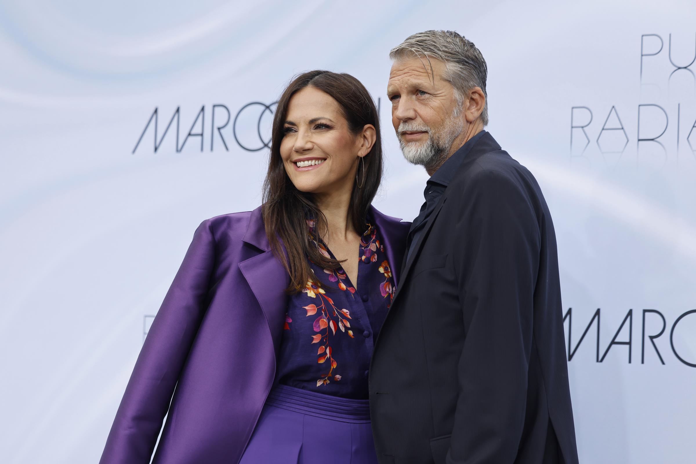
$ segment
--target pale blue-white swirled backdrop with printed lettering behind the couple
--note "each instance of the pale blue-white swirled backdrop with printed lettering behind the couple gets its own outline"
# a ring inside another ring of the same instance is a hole
[[[375,205],[416,216],[427,175],[385,90],[390,47],[425,29],[481,49],[487,129],[551,208],[580,461],[696,462],[696,4],[560,3],[0,1],[3,463],[98,461],[193,230],[260,202],[267,150],[242,145],[271,117],[243,107],[293,74],[379,99]]]

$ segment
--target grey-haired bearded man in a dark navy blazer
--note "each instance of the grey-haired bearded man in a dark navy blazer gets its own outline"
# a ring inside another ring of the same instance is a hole
[[[555,234],[488,122],[487,66],[452,31],[395,47],[404,157],[431,175],[370,368],[381,464],[577,464]]]

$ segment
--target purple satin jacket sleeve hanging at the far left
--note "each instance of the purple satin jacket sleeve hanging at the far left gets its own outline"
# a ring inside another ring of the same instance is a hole
[[[203,221],[167,291],[126,387],[100,464],[148,464],[174,387],[205,312],[215,261]]]

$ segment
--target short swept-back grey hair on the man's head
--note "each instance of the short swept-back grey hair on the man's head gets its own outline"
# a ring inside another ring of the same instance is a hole
[[[454,87],[459,104],[464,102],[464,95],[469,90],[480,87],[486,96],[481,122],[484,126],[488,124],[488,67],[473,42],[454,31],[425,31],[409,36],[389,52],[389,57],[395,61],[411,56],[436,58],[445,63],[443,79]]]

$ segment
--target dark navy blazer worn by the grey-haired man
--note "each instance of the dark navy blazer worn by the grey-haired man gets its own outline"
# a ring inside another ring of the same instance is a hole
[[[484,134],[414,247],[370,367],[379,462],[577,464],[555,233],[535,178]]]

